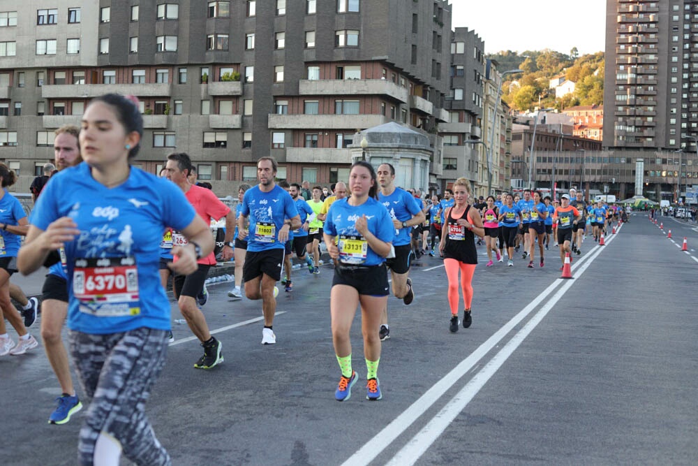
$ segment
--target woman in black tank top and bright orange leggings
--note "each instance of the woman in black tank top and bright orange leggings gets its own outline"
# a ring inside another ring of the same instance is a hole
[[[475,235],[484,237],[482,218],[477,209],[470,208],[470,182],[459,178],[453,184],[455,204],[449,207],[445,214],[439,249],[443,255],[443,263],[448,277],[448,304],[451,307],[451,332],[458,331],[458,273],[461,273],[461,289],[463,289],[463,328],[470,327],[473,318],[470,316],[473,302],[473,273],[477,265],[475,250]]]

